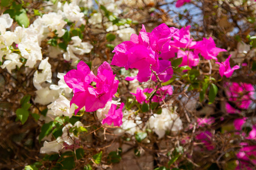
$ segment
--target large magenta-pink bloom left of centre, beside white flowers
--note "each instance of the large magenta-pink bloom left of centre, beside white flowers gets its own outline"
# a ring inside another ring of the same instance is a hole
[[[82,107],[85,107],[86,112],[104,108],[117,92],[119,81],[114,78],[115,75],[108,62],[104,62],[98,67],[97,76],[83,61],[79,62],[77,70],[68,71],[64,80],[70,88],[73,88],[74,96],[70,104],[75,103],[78,106],[75,114]]]

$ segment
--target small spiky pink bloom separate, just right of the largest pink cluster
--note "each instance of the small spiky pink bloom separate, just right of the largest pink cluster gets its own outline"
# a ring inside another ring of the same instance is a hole
[[[234,66],[232,69],[230,67],[230,63],[229,63],[229,59],[232,55],[230,55],[226,61],[224,62],[216,62],[218,65],[220,65],[220,75],[221,76],[226,76],[226,78],[229,78],[230,76],[232,76],[234,70],[240,69],[240,66],[236,65]]]

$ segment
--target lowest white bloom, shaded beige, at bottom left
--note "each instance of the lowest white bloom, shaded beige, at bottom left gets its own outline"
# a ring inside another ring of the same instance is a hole
[[[44,141],[43,147],[40,148],[40,154],[53,154],[59,153],[60,150],[63,148],[63,139],[58,137],[56,141],[47,142]]]

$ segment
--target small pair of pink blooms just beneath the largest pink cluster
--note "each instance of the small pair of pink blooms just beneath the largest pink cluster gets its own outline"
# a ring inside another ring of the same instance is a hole
[[[149,100],[147,99],[147,96],[144,93],[151,94],[155,89],[154,88],[145,88],[144,90],[141,90],[140,88],[137,88],[136,94],[131,93],[136,97],[136,100],[138,103],[148,103]],[[155,95],[152,97],[152,102],[160,103],[163,101],[166,97],[166,95],[172,95],[172,87],[171,85],[160,87],[158,91],[155,92]]]

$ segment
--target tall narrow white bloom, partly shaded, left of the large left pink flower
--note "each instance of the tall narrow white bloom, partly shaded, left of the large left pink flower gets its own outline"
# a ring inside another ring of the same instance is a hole
[[[52,82],[52,70],[51,64],[48,62],[49,57],[43,59],[38,67],[39,70],[42,70],[41,73],[38,70],[34,73],[33,84],[37,90],[41,89],[41,83],[43,82]]]

